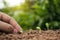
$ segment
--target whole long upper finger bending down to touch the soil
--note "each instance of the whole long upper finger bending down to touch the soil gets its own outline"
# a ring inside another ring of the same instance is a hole
[[[18,23],[7,14],[0,12],[0,19],[4,22],[11,24],[18,32],[23,32],[22,28],[18,25]]]

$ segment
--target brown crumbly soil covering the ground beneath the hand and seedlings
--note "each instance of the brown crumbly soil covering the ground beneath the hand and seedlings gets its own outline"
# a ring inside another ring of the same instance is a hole
[[[60,40],[60,30],[28,30],[22,34],[0,32],[0,40]]]

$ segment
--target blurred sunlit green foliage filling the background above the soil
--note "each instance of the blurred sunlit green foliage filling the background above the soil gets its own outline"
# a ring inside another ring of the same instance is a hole
[[[3,0],[4,12],[12,16],[23,30],[56,30],[60,29],[59,0],[25,0],[19,6],[9,7]]]

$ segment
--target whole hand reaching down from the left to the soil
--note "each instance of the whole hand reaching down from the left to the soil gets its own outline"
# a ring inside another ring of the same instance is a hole
[[[4,26],[3,26],[4,25]],[[10,31],[8,31],[10,29]],[[9,15],[0,12],[0,30],[13,33],[23,32],[18,23]]]

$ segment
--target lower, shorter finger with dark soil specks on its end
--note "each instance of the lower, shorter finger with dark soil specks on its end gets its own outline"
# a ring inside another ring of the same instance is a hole
[[[12,25],[0,21],[0,30],[1,30],[1,31],[4,31],[4,32],[8,32],[8,33],[9,33],[9,32],[10,32],[10,33],[11,33],[11,32],[13,33],[14,28],[12,27]]]

